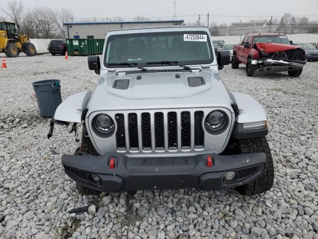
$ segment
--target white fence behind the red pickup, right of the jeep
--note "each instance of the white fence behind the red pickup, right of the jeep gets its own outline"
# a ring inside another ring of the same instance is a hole
[[[293,34],[293,35],[286,35],[289,40],[292,40],[296,43],[318,43],[318,34]],[[213,36],[214,40],[224,40],[225,43],[228,44],[237,44],[244,36]]]

